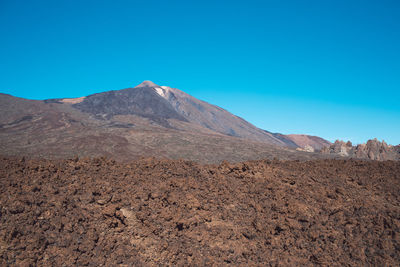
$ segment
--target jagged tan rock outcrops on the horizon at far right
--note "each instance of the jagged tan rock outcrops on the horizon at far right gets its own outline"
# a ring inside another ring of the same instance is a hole
[[[371,160],[399,160],[400,146],[390,146],[385,141],[368,140],[366,144],[353,146],[352,143],[336,140],[334,144],[323,148],[323,154],[336,154],[342,157],[351,157]]]

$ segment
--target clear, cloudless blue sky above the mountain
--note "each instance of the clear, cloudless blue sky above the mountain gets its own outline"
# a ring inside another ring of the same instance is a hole
[[[0,0],[0,92],[152,80],[256,126],[400,143],[400,1]]]

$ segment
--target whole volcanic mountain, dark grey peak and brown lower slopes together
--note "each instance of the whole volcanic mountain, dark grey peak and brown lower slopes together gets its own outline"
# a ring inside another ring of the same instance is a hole
[[[296,151],[302,144],[150,81],[79,98],[41,101],[0,94],[3,155],[119,160],[157,156],[209,163],[336,157]]]

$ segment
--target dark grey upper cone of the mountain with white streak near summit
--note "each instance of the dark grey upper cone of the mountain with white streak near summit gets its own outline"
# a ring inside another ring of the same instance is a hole
[[[137,115],[174,128],[169,119],[190,122],[224,135],[269,144],[298,147],[285,136],[261,130],[228,111],[198,100],[185,92],[144,81],[134,88],[87,96],[73,107],[99,118]]]

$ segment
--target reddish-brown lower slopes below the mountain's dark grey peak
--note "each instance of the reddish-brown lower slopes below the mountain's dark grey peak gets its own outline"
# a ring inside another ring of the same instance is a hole
[[[141,116],[118,114],[117,108],[108,117],[72,106],[84,99],[37,101],[0,94],[0,154],[49,159],[107,156],[119,161],[156,156],[203,163],[332,157],[218,133],[167,108],[171,113],[164,117],[154,117],[160,111],[156,109],[142,111],[146,113]]]

